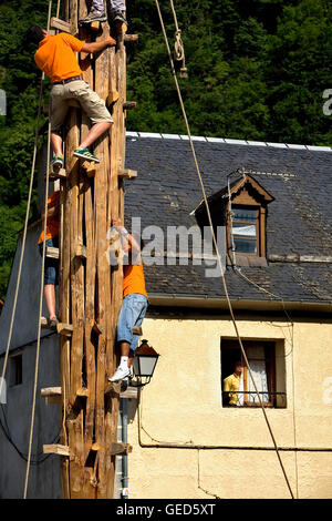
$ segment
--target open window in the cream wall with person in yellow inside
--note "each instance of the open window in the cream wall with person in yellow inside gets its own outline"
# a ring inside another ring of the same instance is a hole
[[[284,408],[287,397],[283,343],[243,340],[243,348],[263,405]],[[242,370],[240,376],[235,377],[235,366],[238,361],[241,362]],[[229,387],[229,382],[234,387]],[[239,343],[235,339],[221,339],[221,396],[222,407],[260,407]]]

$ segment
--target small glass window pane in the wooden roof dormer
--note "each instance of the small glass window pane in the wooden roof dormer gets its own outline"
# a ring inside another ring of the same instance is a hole
[[[258,255],[259,211],[245,206],[232,206],[232,241],[236,253]]]

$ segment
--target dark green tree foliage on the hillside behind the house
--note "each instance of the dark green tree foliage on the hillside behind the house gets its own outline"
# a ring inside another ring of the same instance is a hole
[[[194,134],[329,145],[322,93],[331,88],[330,0],[174,0],[189,78],[180,86]],[[173,45],[175,24],[160,0]],[[177,94],[154,0],[127,0],[127,129],[184,133]],[[25,211],[40,72],[24,33],[44,25],[46,0],[2,0],[0,89],[0,296]],[[179,68],[179,65],[177,65]],[[41,122],[43,123],[43,121]],[[34,206],[31,216],[35,216]]]

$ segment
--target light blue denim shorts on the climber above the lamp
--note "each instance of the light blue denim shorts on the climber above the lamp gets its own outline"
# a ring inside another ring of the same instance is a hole
[[[138,335],[133,335],[134,326],[142,326],[147,309],[147,298],[141,293],[131,293],[124,297],[117,319],[117,341],[131,344],[133,355],[138,343]]]

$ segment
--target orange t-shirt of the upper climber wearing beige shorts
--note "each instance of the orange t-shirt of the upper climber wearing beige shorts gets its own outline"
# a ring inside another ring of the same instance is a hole
[[[34,61],[51,78],[52,83],[80,76],[82,70],[74,52],[81,52],[84,43],[65,32],[55,37],[50,34],[40,42]]]

